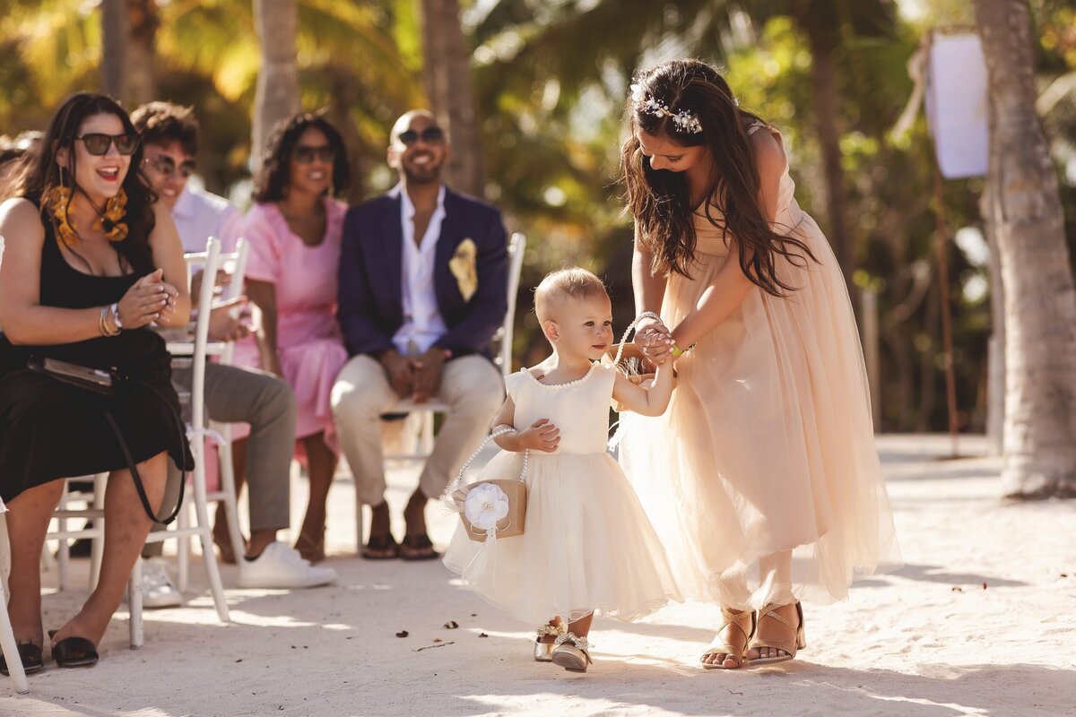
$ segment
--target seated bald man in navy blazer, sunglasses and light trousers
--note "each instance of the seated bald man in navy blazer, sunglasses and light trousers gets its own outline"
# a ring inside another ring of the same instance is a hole
[[[332,387],[340,445],[360,504],[372,506],[364,558],[437,558],[424,511],[489,432],[504,400],[492,361],[505,320],[508,252],[500,212],[441,182],[448,138],[433,114],[393,126],[388,163],[400,183],[348,212],[337,315],[351,360]],[[449,406],[404,517],[397,545],[385,503],[382,414],[400,399]]]

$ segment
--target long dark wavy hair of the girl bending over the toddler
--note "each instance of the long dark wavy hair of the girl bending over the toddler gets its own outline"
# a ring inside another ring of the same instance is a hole
[[[756,286],[773,296],[793,290],[776,268],[780,256],[806,266],[813,254],[802,241],[782,236],[769,227],[759,205],[759,170],[748,128],[762,121],[740,110],[724,77],[698,60],[669,60],[645,70],[633,81],[642,92],[677,112],[693,113],[703,131],[681,131],[670,116],[643,112],[643,105],[627,101],[631,137],[621,149],[621,169],[626,186],[627,211],[635,217],[636,233],[653,253],[654,274],[676,272],[690,276],[695,256],[694,207],[682,172],[654,170],[642,154],[636,130],[667,138],[684,147],[706,145],[713,159],[714,176],[706,189],[706,218],[726,236],[736,240],[740,269]],[[714,217],[718,209],[722,218]]]

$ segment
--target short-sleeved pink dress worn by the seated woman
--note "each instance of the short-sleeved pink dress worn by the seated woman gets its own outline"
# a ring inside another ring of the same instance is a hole
[[[243,219],[241,236],[250,242],[246,278],[277,288],[277,348],[284,379],[295,391],[295,436],[325,432],[336,450],[329,391],[348,350],[336,319],[337,270],[348,206],[325,200],[325,238],[307,246],[287,226],[274,202],[255,204]],[[236,344],[236,365],[261,368],[251,336]]]

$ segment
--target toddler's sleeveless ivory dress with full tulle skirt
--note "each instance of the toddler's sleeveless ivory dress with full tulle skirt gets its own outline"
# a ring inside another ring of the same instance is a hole
[[[554,453],[530,451],[522,535],[479,543],[461,526],[444,564],[464,585],[522,620],[575,621],[589,613],[634,620],[680,592],[664,548],[620,465],[606,449],[615,369],[549,385],[527,369],[506,379],[518,430],[548,418]],[[501,451],[480,479],[518,478],[523,454]]]

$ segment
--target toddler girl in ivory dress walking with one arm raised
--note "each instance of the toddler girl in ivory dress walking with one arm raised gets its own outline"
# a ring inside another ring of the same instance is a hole
[[[612,342],[611,307],[589,271],[549,274],[535,312],[553,354],[506,381],[508,398],[494,418],[504,453],[481,474],[514,477],[527,467],[524,532],[476,542],[461,526],[444,564],[492,604],[542,622],[536,660],[585,672],[595,614],[634,620],[681,599],[654,529],[606,450],[610,400],[660,415],[674,375],[660,367],[643,387],[601,361]]]

